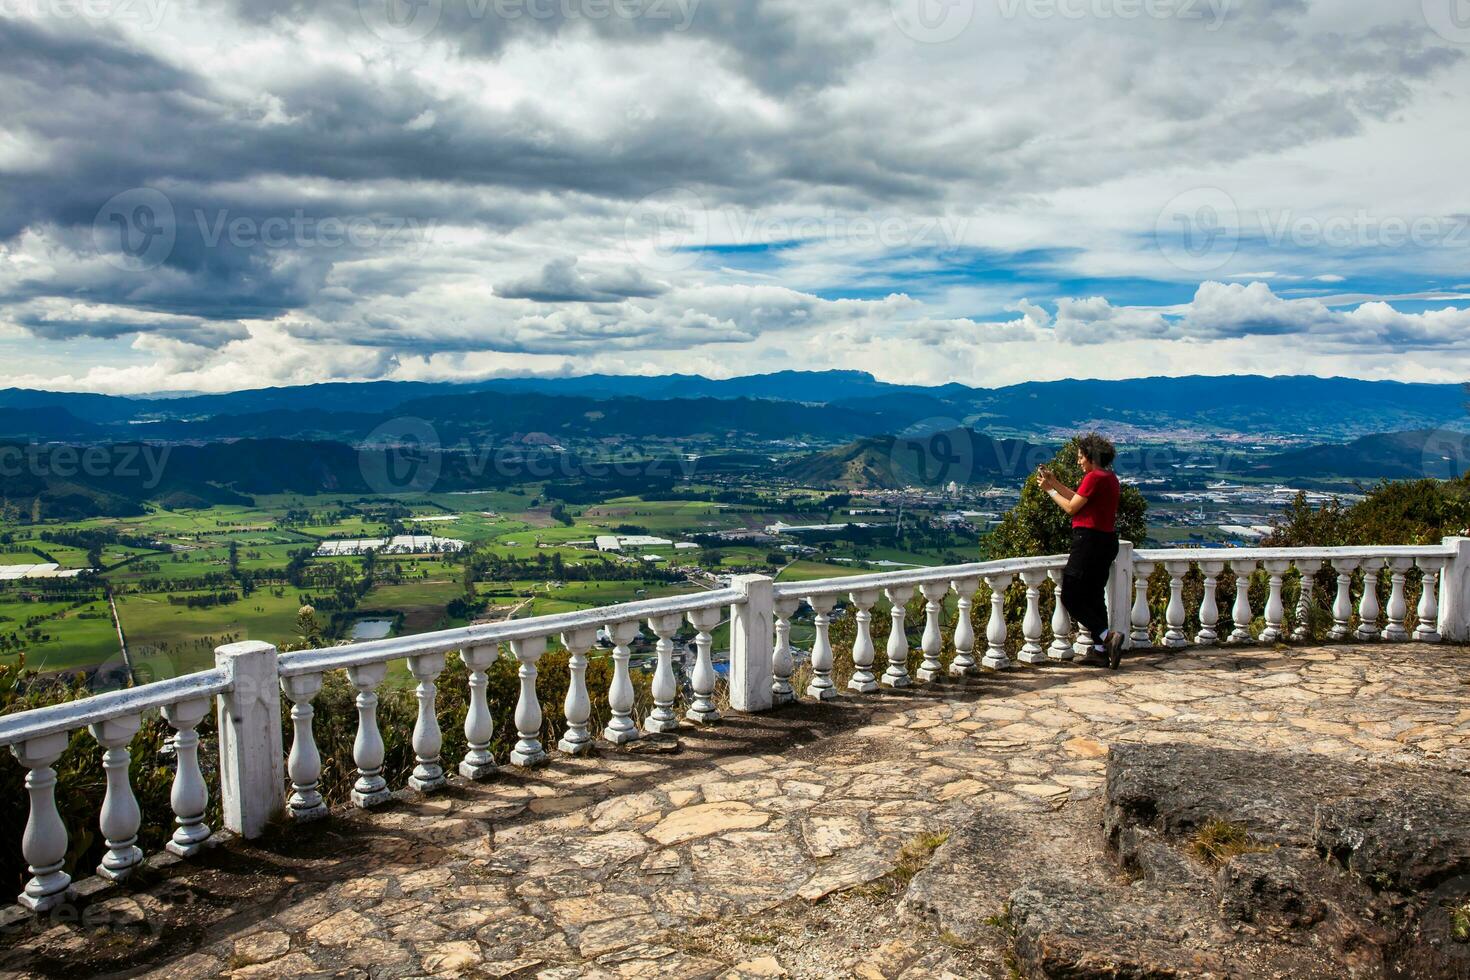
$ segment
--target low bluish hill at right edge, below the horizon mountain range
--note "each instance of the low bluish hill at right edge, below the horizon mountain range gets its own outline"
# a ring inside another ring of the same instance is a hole
[[[1366,435],[1347,444],[1282,453],[1258,470],[1264,476],[1355,479],[1458,479],[1470,472],[1470,433],[1416,429]]]

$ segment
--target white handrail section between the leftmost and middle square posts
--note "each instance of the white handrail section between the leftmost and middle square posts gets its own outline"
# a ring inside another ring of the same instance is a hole
[[[532,616],[504,623],[487,623],[482,626],[462,626],[434,633],[417,633],[415,636],[394,636],[391,639],[375,639],[350,646],[329,646],[325,649],[300,649],[281,654],[278,663],[282,677],[297,674],[325,673],[328,670],[343,670],[345,667],[363,667],[404,657],[422,657],[425,654],[445,654],[456,649],[487,646],[516,639],[532,639],[537,636],[551,636],[554,633],[570,633],[584,629],[595,629],[607,623],[629,623],[675,613],[692,613],[723,605],[738,605],[744,601],[744,594],[738,589],[714,589],[711,592],[691,592],[688,595],[667,595],[656,599],[638,599],[637,602],[619,602],[616,605],[600,605],[591,610],[576,610],[575,613],[553,613],[550,616]]]

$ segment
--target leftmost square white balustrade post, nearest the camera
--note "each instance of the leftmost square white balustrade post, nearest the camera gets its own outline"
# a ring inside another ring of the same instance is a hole
[[[219,695],[219,796],[225,827],[259,837],[285,811],[281,676],[276,648],[248,641],[215,649],[229,674]]]

